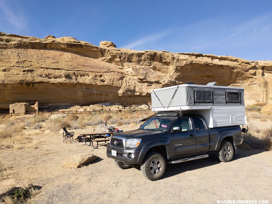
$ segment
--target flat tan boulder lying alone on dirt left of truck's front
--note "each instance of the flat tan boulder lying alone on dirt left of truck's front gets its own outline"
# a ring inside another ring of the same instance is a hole
[[[97,156],[93,154],[76,154],[64,160],[63,165],[66,168],[79,168],[96,159]]]

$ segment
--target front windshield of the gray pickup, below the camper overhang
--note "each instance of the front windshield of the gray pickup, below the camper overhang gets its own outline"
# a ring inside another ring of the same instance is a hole
[[[154,117],[147,120],[141,127],[140,130],[156,130],[166,131],[169,127],[173,117]]]

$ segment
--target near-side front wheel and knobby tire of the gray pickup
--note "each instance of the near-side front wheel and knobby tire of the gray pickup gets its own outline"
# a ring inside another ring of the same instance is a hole
[[[157,161],[156,164],[153,163],[155,160]],[[159,180],[164,175],[165,170],[166,161],[163,155],[157,152],[149,152],[146,154],[146,156],[144,157],[144,161],[141,164],[141,172],[148,180]],[[151,171],[153,171],[153,173],[151,173]],[[157,174],[154,174],[155,172]]]

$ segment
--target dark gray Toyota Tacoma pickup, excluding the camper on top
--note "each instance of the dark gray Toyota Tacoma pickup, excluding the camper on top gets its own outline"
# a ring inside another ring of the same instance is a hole
[[[206,158],[209,152],[216,152],[222,162],[231,161],[242,141],[239,125],[207,128],[201,115],[166,112],[137,130],[113,134],[107,156],[121,169],[141,167],[143,175],[154,181],[164,175],[166,163]]]

